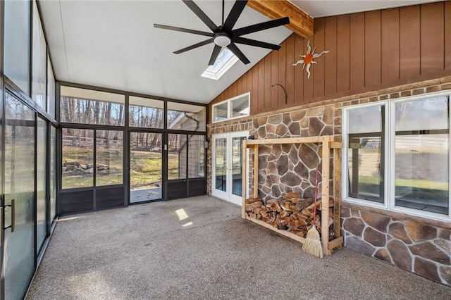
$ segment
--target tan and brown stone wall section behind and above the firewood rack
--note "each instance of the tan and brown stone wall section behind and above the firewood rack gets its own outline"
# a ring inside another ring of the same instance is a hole
[[[255,139],[333,135],[333,119],[333,105],[304,108],[254,118],[251,134]],[[318,144],[260,146],[259,196],[265,203],[290,192],[299,192],[304,198],[313,197],[316,165],[321,173],[321,146]]]

